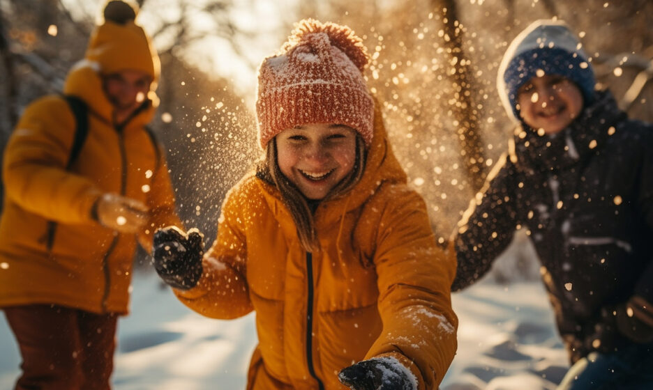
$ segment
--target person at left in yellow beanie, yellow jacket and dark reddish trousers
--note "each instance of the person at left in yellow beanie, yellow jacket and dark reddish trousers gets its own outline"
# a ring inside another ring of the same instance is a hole
[[[159,62],[121,1],[105,8],[64,91],[87,106],[29,104],[3,156],[0,308],[22,354],[16,389],[109,389],[117,316],[128,311],[137,241],[179,224],[166,163],[144,127]],[[69,165],[69,166],[68,166]]]

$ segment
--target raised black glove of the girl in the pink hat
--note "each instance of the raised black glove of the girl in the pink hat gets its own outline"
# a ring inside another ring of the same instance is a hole
[[[183,233],[177,226],[154,233],[154,268],[165,283],[179,290],[197,285],[202,276],[203,238],[196,228]]]

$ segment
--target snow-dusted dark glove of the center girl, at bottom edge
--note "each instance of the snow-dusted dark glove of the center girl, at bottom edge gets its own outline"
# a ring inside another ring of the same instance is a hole
[[[373,357],[343,368],[340,382],[352,390],[416,390],[414,375],[393,357]]]

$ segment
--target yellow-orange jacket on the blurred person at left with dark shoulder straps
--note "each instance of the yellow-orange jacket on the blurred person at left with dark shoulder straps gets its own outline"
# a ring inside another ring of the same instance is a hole
[[[82,61],[66,79],[64,92],[89,106],[89,132],[69,171],[75,117],[59,96],[27,107],[4,152],[0,307],[45,303],[96,313],[128,311],[137,237],[91,219],[100,194],[114,192],[149,205],[151,221],[139,236],[145,248],[151,248],[156,228],[180,223],[165,160],[144,129],[154,113],[151,100],[117,129],[96,65]]]

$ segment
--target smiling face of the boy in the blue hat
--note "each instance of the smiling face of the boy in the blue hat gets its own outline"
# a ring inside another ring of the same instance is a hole
[[[567,127],[583,109],[583,93],[570,79],[558,75],[533,77],[517,91],[524,122],[545,134]]]

